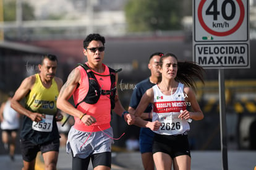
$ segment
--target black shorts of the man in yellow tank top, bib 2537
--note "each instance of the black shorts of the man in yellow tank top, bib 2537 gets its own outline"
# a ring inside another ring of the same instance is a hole
[[[22,158],[24,161],[30,162],[36,158],[38,151],[41,153],[46,153],[48,151],[58,151],[59,152],[59,138],[51,142],[46,142],[42,144],[35,144],[30,142],[30,140],[20,140],[20,150],[22,152]]]

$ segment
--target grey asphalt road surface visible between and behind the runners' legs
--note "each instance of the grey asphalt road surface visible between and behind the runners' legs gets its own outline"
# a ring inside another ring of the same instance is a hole
[[[221,151],[191,151],[192,156],[192,170],[218,170],[223,169]],[[113,152],[112,154],[112,169],[143,169],[142,161],[139,152]],[[41,162],[41,163],[40,163]],[[36,170],[43,169],[42,158],[38,156],[36,161],[38,165]],[[59,152],[59,160],[57,169],[68,170],[71,169],[71,158],[61,148]],[[0,155],[1,170],[22,169],[22,156],[15,155],[15,161],[11,161],[8,155]],[[228,151],[228,169],[231,170],[254,170],[256,166],[256,151]],[[89,166],[92,169],[92,165]]]

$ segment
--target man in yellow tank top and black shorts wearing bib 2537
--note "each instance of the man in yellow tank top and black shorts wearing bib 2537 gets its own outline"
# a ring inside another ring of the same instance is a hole
[[[56,121],[62,115],[56,108],[56,100],[62,86],[62,80],[54,77],[57,69],[57,57],[44,55],[38,65],[39,74],[23,80],[11,100],[11,106],[23,114],[20,131],[20,149],[23,158],[23,170],[35,169],[35,158],[41,151],[46,169],[56,169],[59,153],[59,132]],[[25,107],[20,101],[25,98]]]

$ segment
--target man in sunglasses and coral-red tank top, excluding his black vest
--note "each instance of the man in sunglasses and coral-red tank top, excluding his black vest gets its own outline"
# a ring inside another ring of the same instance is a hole
[[[105,55],[105,38],[99,34],[90,34],[83,41],[83,54],[87,56],[87,66],[95,74],[101,90],[111,89],[111,78],[108,67],[103,64]],[[91,79],[91,78],[90,78]],[[117,82],[117,75],[116,75]],[[88,77],[85,69],[76,67],[69,74],[67,82],[61,89],[57,106],[59,109],[74,116],[75,125],[69,131],[67,151],[72,152],[72,169],[86,169],[90,159],[93,168],[111,168],[111,144],[113,143],[113,130],[111,121],[110,95],[98,94],[100,99],[95,104],[80,103],[77,108],[69,103],[73,95],[77,104],[85,98],[88,92]],[[127,118],[133,117],[122,107],[116,90],[114,113]]]

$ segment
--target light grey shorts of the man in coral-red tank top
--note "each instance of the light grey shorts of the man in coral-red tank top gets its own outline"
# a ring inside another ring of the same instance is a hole
[[[98,132],[83,132],[72,126],[69,130],[67,139],[67,153],[72,150],[73,156],[77,158],[87,158],[96,153],[111,151],[111,145],[114,143],[113,129]]]

